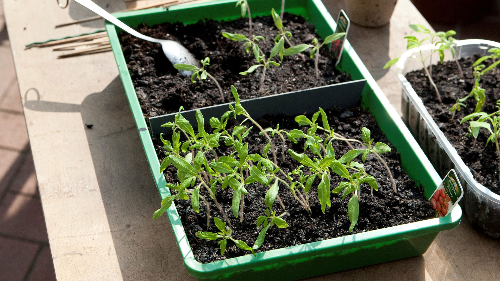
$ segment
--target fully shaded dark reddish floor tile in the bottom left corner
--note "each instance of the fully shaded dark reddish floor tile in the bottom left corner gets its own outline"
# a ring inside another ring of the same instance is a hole
[[[40,245],[0,237],[0,281],[22,281]]]

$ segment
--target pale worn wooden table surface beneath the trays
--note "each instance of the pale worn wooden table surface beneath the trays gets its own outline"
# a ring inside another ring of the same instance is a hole
[[[125,7],[122,0],[96,2]],[[336,17],[342,3],[324,3]],[[102,21],[54,29],[92,13],[74,3],[60,9],[53,0],[3,5],[57,279],[193,280],[166,216],[151,219],[159,195],[112,53],[56,59],[50,48],[24,50],[33,41],[95,30]],[[409,0],[399,0],[389,25],[353,24],[348,37],[398,111],[401,89],[393,69],[381,67],[403,52],[410,22],[427,24]],[[421,256],[311,279],[498,280],[499,259],[500,243],[463,217]]]

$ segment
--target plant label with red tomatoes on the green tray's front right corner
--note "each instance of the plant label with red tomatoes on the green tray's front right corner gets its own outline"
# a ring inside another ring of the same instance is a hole
[[[436,217],[448,215],[462,196],[462,185],[456,176],[455,170],[451,169],[429,198]]]

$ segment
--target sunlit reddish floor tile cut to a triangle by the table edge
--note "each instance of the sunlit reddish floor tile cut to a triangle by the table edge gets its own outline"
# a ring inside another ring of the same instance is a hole
[[[12,180],[8,189],[27,195],[38,194],[38,182],[36,181],[33,156],[31,153],[26,155],[24,162],[19,167],[19,171]]]

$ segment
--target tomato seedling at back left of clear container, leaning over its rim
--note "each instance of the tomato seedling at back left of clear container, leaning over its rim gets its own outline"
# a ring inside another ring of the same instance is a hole
[[[418,61],[420,61],[423,65],[423,70],[425,71],[425,75],[427,76],[427,78],[429,79],[429,82],[430,84],[432,85],[432,87],[434,88],[434,91],[436,92],[436,97],[437,97],[437,100],[439,102],[442,102],[441,101],[441,95],[439,94],[439,90],[437,89],[437,86],[436,84],[434,83],[434,81],[432,80],[432,76],[431,76],[431,72],[432,72],[432,53],[436,52],[437,49],[431,49],[430,50],[430,54],[427,55],[425,58],[423,57],[423,54],[422,54],[422,50],[420,49],[420,46],[422,46],[425,41],[429,40],[431,44],[434,44],[435,43],[435,40],[438,38],[435,33],[432,33],[430,32],[430,30],[422,25],[419,25],[419,24],[410,24],[409,27],[417,32],[422,32],[426,35],[425,38],[419,40],[417,37],[415,37],[414,35],[407,35],[407,36],[404,36],[405,39],[407,39],[407,44],[406,44],[406,49],[412,49],[414,47],[418,47],[418,52],[420,54],[420,57],[412,57]],[[425,61],[427,60],[427,58],[430,58],[430,69],[427,69],[427,66],[425,65]],[[385,65],[383,66],[383,68],[387,68],[389,67],[390,65],[394,64],[397,62],[397,60],[399,59],[399,57],[396,57],[396,58],[393,58],[391,60],[389,60],[387,63],[385,63]]]

